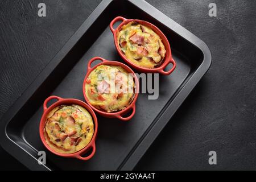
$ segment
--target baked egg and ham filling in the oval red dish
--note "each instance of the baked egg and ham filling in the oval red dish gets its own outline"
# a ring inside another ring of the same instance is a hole
[[[157,68],[163,63],[166,49],[161,38],[151,28],[137,22],[122,26],[117,34],[122,53],[134,64],[144,68]]]

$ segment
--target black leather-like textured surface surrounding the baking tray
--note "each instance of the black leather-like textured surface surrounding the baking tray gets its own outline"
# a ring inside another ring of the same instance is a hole
[[[255,169],[255,1],[152,1],[212,51],[213,63],[136,169]],[[0,2],[0,116],[14,103],[100,1]],[[208,152],[217,152],[217,166]],[[22,169],[1,150],[1,169]]]

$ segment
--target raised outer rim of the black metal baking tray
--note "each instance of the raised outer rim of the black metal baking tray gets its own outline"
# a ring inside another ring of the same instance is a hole
[[[23,105],[28,101],[28,99],[34,94],[36,89],[42,84],[42,82],[48,77],[48,75],[56,68],[56,66],[60,63],[60,61],[67,55],[69,50],[75,46],[75,44],[79,41],[81,36],[88,30],[88,28],[93,24],[94,20],[97,19],[98,16],[108,7],[110,3],[115,0],[103,0],[96,9],[88,16],[88,18],[81,24],[81,26],[76,30],[76,32],[68,39],[68,41],[64,44],[64,46],[60,49],[59,52],[49,61],[46,67],[36,76],[35,80],[27,87],[26,90],[20,95],[20,97],[14,102],[13,105],[10,106],[9,110],[3,114],[0,122],[0,144],[4,150],[6,150],[9,154],[14,156],[19,162],[23,163],[24,166],[29,169],[34,170],[51,170],[51,168],[46,165],[38,164],[38,160],[32,156],[25,147],[22,147],[15,143],[7,134],[6,128],[11,119],[13,119],[14,115],[18,113],[18,111],[23,107]],[[133,3],[135,6],[138,6],[139,9],[146,12],[152,17],[158,17],[157,20],[172,31],[176,32],[176,34],[182,36],[184,39],[188,40],[188,42],[192,43],[193,46],[196,46],[203,52],[204,59],[196,71],[191,75],[188,81],[183,85],[181,90],[177,93],[174,100],[167,106],[167,108],[163,111],[162,115],[158,118],[158,121],[154,123],[154,125],[150,125],[149,131],[146,131],[146,135],[141,137],[136,148],[133,147],[133,150],[129,152],[129,155],[126,156],[125,160],[123,160],[122,164],[118,167],[119,170],[131,170],[133,169],[139,160],[142,158],[147,149],[154,142],[155,138],[158,137],[158,134],[163,130],[166,124],[170,121],[172,115],[176,112],[176,110],[183,103],[185,98],[189,95],[192,89],[196,86],[196,84],[201,80],[204,74],[210,68],[212,63],[212,55],[208,46],[203,42],[203,40],[197,38],[196,35],[189,32],[184,27],[180,26],[180,24],[176,23],[174,20],[160,12],[154,6],[150,5],[150,3],[141,0],[125,0],[130,3]],[[154,9],[154,11],[152,11]],[[26,140],[25,140],[26,141]],[[135,145],[135,146],[136,146]],[[19,152],[17,152],[19,151]],[[28,162],[28,159],[30,160]]]

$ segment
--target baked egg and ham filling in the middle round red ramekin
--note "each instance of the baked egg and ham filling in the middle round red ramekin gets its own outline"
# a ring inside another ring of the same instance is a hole
[[[122,67],[100,65],[88,76],[85,94],[90,104],[108,113],[125,109],[133,101],[133,76]]]

